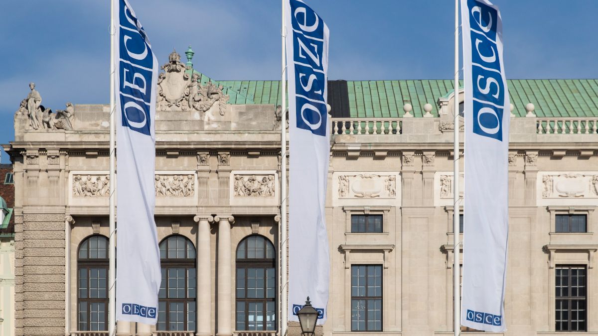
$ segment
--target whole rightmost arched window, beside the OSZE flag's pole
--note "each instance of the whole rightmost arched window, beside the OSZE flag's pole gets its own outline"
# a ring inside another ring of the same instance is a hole
[[[237,246],[236,329],[276,330],[274,245],[249,236]]]

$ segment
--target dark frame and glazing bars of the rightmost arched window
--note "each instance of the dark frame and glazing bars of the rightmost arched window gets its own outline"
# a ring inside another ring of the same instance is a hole
[[[264,257],[265,258],[248,258],[247,255],[247,251],[248,251],[248,244],[245,243],[245,258],[238,258],[238,253],[239,253],[239,248],[241,248],[241,245],[243,242],[248,242],[249,238],[251,237],[260,237],[261,239],[263,239],[264,242]],[[267,248],[268,248],[268,244],[270,244],[271,248],[273,249],[273,258],[267,258]],[[271,242],[270,239],[268,239],[267,237],[262,236],[261,234],[250,234],[249,236],[243,237],[242,240],[240,240],[239,244],[237,245],[237,248],[235,249],[235,269],[234,269],[234,298],[235,298],[235,302],[234,302],[234,328],[237,329],[237,324],[240,323],[241,321],[237,320],[237,306],[240,303],[244,304],[244,316],[245,319],[243,321],[245,328],[243,329],[238,329],[236,331],[276,331],[278,328],[278,283],[277,283],[277,279],[278,279],[278,275],[279,275],[279,271],[277,268],[277,259],[276,259],[276,246],[274,246],[274,244]],[[239,289],[239,285],[238,285],[238,279],[239,279],[239,269],[243,268],[244,270],[244,277],[243,277],[243,282],[245,283],[245,285],[243,286],[243,289],[245,290],[245,297],[243,298],[239,298],[237,296],[237,290]],[[247,292],[248,292],[248,268],[261,268],[264,270],[264,297],[263,298],[248,298]],[[274,297],[273,298],[268,298],[267,297],[267,289],[268,289],[268,284],[267,284],[267,270],[268,268],[273,268],[274,270]],[[267,304],[269,302],[273,302],[274,304],[274,326],[272,330],[267,329]],[[263,329],[249,329],[249,320],[248,320],[248,316],[249,316],[249,304],[251,303],[263,303],[263,307],[262,307],[262,313],[263,313],[263,317],[264,320],[263,322]]]

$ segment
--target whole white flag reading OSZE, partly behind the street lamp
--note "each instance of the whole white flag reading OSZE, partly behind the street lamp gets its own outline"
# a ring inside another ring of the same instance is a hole
[[[289,83],[289,320],[306,297],[326,322],[330,267],[325,221],[330,153],[328,26],[300,0],[285,1]]]

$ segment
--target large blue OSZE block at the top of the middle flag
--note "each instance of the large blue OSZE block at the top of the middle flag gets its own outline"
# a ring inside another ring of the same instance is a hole
[[[290,0],[290,3],[297,127],[326,136],[324,22],[303,2]]]

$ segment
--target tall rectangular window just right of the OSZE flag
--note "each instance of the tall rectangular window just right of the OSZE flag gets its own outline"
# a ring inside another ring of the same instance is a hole
[[[382,331],[382,265],[351,266],[351,331]]]

